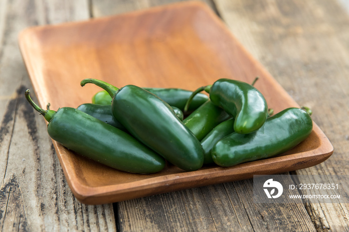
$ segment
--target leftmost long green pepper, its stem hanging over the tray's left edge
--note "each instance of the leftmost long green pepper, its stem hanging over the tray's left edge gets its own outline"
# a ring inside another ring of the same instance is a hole
[[[48,121],[50,137],[66,148],[112,168],[131,173],[155,173],[165,167],[160,155],[128,133],[77,109],[44,111],[25,96]]]

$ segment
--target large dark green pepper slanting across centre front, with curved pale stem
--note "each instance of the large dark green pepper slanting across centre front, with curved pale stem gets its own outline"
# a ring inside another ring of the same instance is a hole
[[[86,83],[93,83],[113,96],[113,116],[142,143],[183,170],[193,171],[202,166],[200,142],[169,104],[134,85],[118,89],[100,80],[85,79],[81,86]]]

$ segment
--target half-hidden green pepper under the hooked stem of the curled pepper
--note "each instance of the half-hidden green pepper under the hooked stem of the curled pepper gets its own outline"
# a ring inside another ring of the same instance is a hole
[[[216,125],[230,118],[221,108],[207,101],[187,116],[183,123],[196,136],[203,139]]]

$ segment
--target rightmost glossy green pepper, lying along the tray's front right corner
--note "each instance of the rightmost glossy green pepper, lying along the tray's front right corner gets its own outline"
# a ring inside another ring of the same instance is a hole
[[[213,161],[224,167],[268,158],[292,149],[306,139],[313,129],[310,115],[299,108],[289,108],[269,117],[257,131],[236,132],[219,140],[212,148]]]

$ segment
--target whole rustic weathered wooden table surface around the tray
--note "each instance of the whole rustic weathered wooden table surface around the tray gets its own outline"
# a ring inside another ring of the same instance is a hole
[[[252,180],[108,205],[71,193],[31,89],[17,38],[28,26],[119,14],[175,0],[0,0],[2,231],[348,231],[349,204],[253,204]],[[344,0],[204,0],[300,104],[335,152],[291,174],[348,175],[349,5]],[[35,117],[35,123],[30,118]],[[289,175],[289,173],[285,173]]]

